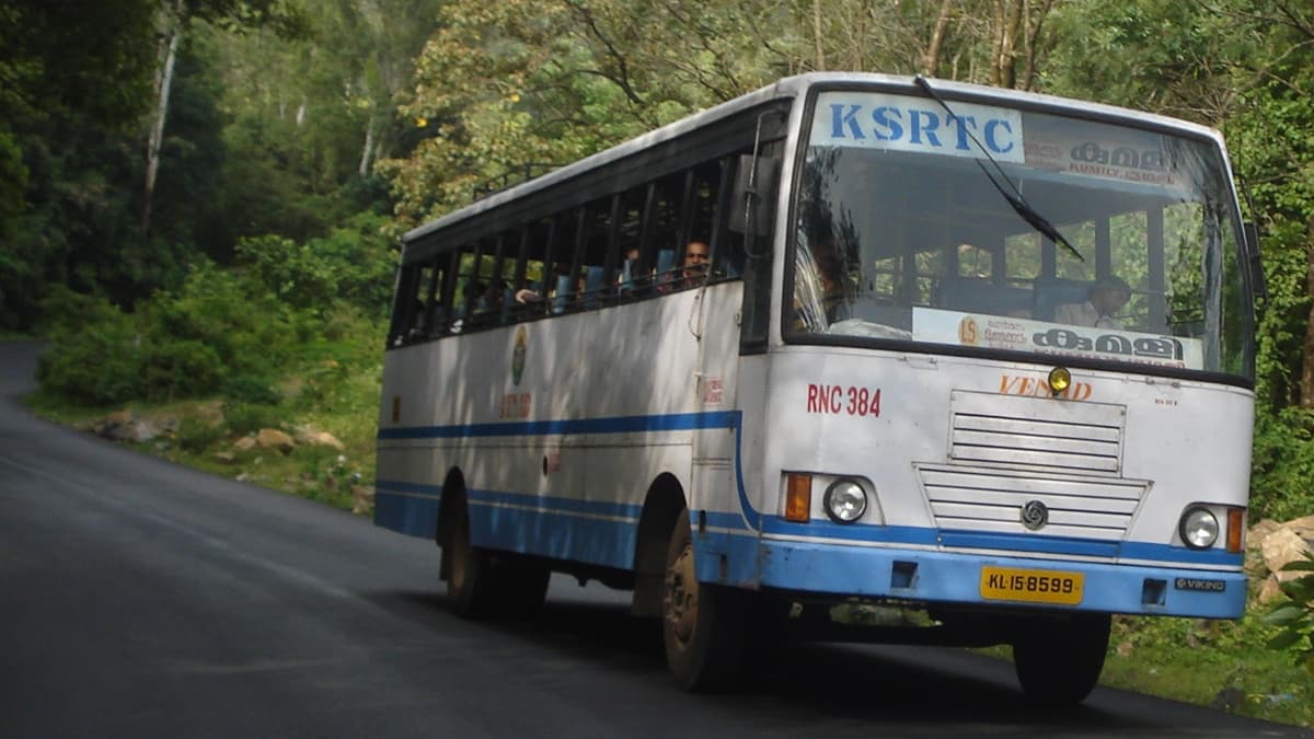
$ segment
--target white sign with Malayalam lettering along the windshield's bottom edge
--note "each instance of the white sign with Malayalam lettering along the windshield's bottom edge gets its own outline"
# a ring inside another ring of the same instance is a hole
[[[1055,356],[1112,359],[1131,364],[1204,370],[1201,339],[1047,321],[913,308],[913,338],[925,342],[1005,348]]]

